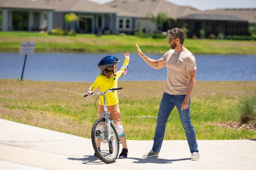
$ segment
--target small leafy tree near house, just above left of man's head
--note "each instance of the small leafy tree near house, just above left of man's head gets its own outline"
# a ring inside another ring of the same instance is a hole
[[[168,18],[168,16],[166,15],[166,13],[164,12],[159,12],[157,13],[157,15],[155,16],[153,13],[148,13],[147,16],[150,17],[150,20],[152,22],[155,22],[157,24],[157,32],[158,31],[162,31],[163,29],[163,24],[165,22],[167,22],[168,24],[170,24],[170,18]]]

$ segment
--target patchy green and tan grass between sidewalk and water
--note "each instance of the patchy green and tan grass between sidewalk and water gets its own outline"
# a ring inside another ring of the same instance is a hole
[[[90,138],[92,124],[97,119],[96,98],[83,95],[91,84],[0,79],[0,118]],[[119,82],[123,87],[118,95],[127,139],[153,139],[165,84],[165,81]],[[255,87],[256,82],[196,82],[191,120],[197,139],[256,139],[256,131],[215,125],[240,121],[237,97],[255,93]],[[186,140],[176,108],[168,119],[165,134],[164,140]]]

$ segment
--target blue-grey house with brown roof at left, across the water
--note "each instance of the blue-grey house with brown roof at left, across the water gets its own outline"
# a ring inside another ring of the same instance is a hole
[[[67,28],[65,14],[79,21],[70,29],[78,33],[115,33],[116,11],[89,0],[1,0],[2,31],[51,31]]]

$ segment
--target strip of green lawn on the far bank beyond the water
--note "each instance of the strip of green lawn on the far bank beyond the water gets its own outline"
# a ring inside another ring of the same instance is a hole
[[[167,38],[94,34],[67,36],[0,31],[0,52],[19,52],[22,41],[35,41],[35,53],[137,53],[135,43],[139,44],[144,53],[164,54],[170,49]],[[256,41],[187,38],[184,46],[194,54],[256,54]]]

